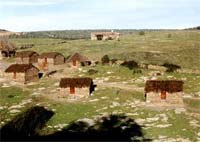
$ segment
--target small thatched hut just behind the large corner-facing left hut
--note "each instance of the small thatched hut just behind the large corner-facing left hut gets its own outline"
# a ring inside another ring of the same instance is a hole
[[[39,54],[34,51],[21,51],[16,53],[16,62],[23,64],[37,63]]]

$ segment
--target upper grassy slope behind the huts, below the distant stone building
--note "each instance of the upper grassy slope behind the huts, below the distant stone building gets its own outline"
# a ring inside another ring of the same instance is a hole
[[[168,34],[172,37],[168,38]],[[200,68],[199,31],[151,31],[145,36],[124,35],[120,41],[72,40],[56,44],[60,39],[12,39],[16,44],[35,43],[32,48],[39,53],[57,51],[68,56],[80,52],[92,60],[100,60],[105,54],[113,58],[134,59],[138,62],[163,64],[170,62],[183,68]],[[53,45],[53,43],[55,43]],[[192,63],[192,64],[191,64]]]

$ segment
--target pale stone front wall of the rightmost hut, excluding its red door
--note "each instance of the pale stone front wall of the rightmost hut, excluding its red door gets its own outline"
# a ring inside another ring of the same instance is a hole
[[[183,92],[169,93],[166,92],[166,99],[161,99],[161,92],[149,92],[146,94],[146,102],[148,103],[168,103],[183,104]]]

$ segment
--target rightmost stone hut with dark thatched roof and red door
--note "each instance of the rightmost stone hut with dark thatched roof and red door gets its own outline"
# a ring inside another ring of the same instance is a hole
[[[181,80],[148,80],[145,85],[145,98],[148,103],[183,103]]]

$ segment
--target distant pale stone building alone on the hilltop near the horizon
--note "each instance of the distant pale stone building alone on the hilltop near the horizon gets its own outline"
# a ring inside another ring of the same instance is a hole
[[[93,32],[91,40],[119,40],[120,33],[117,32]]]

